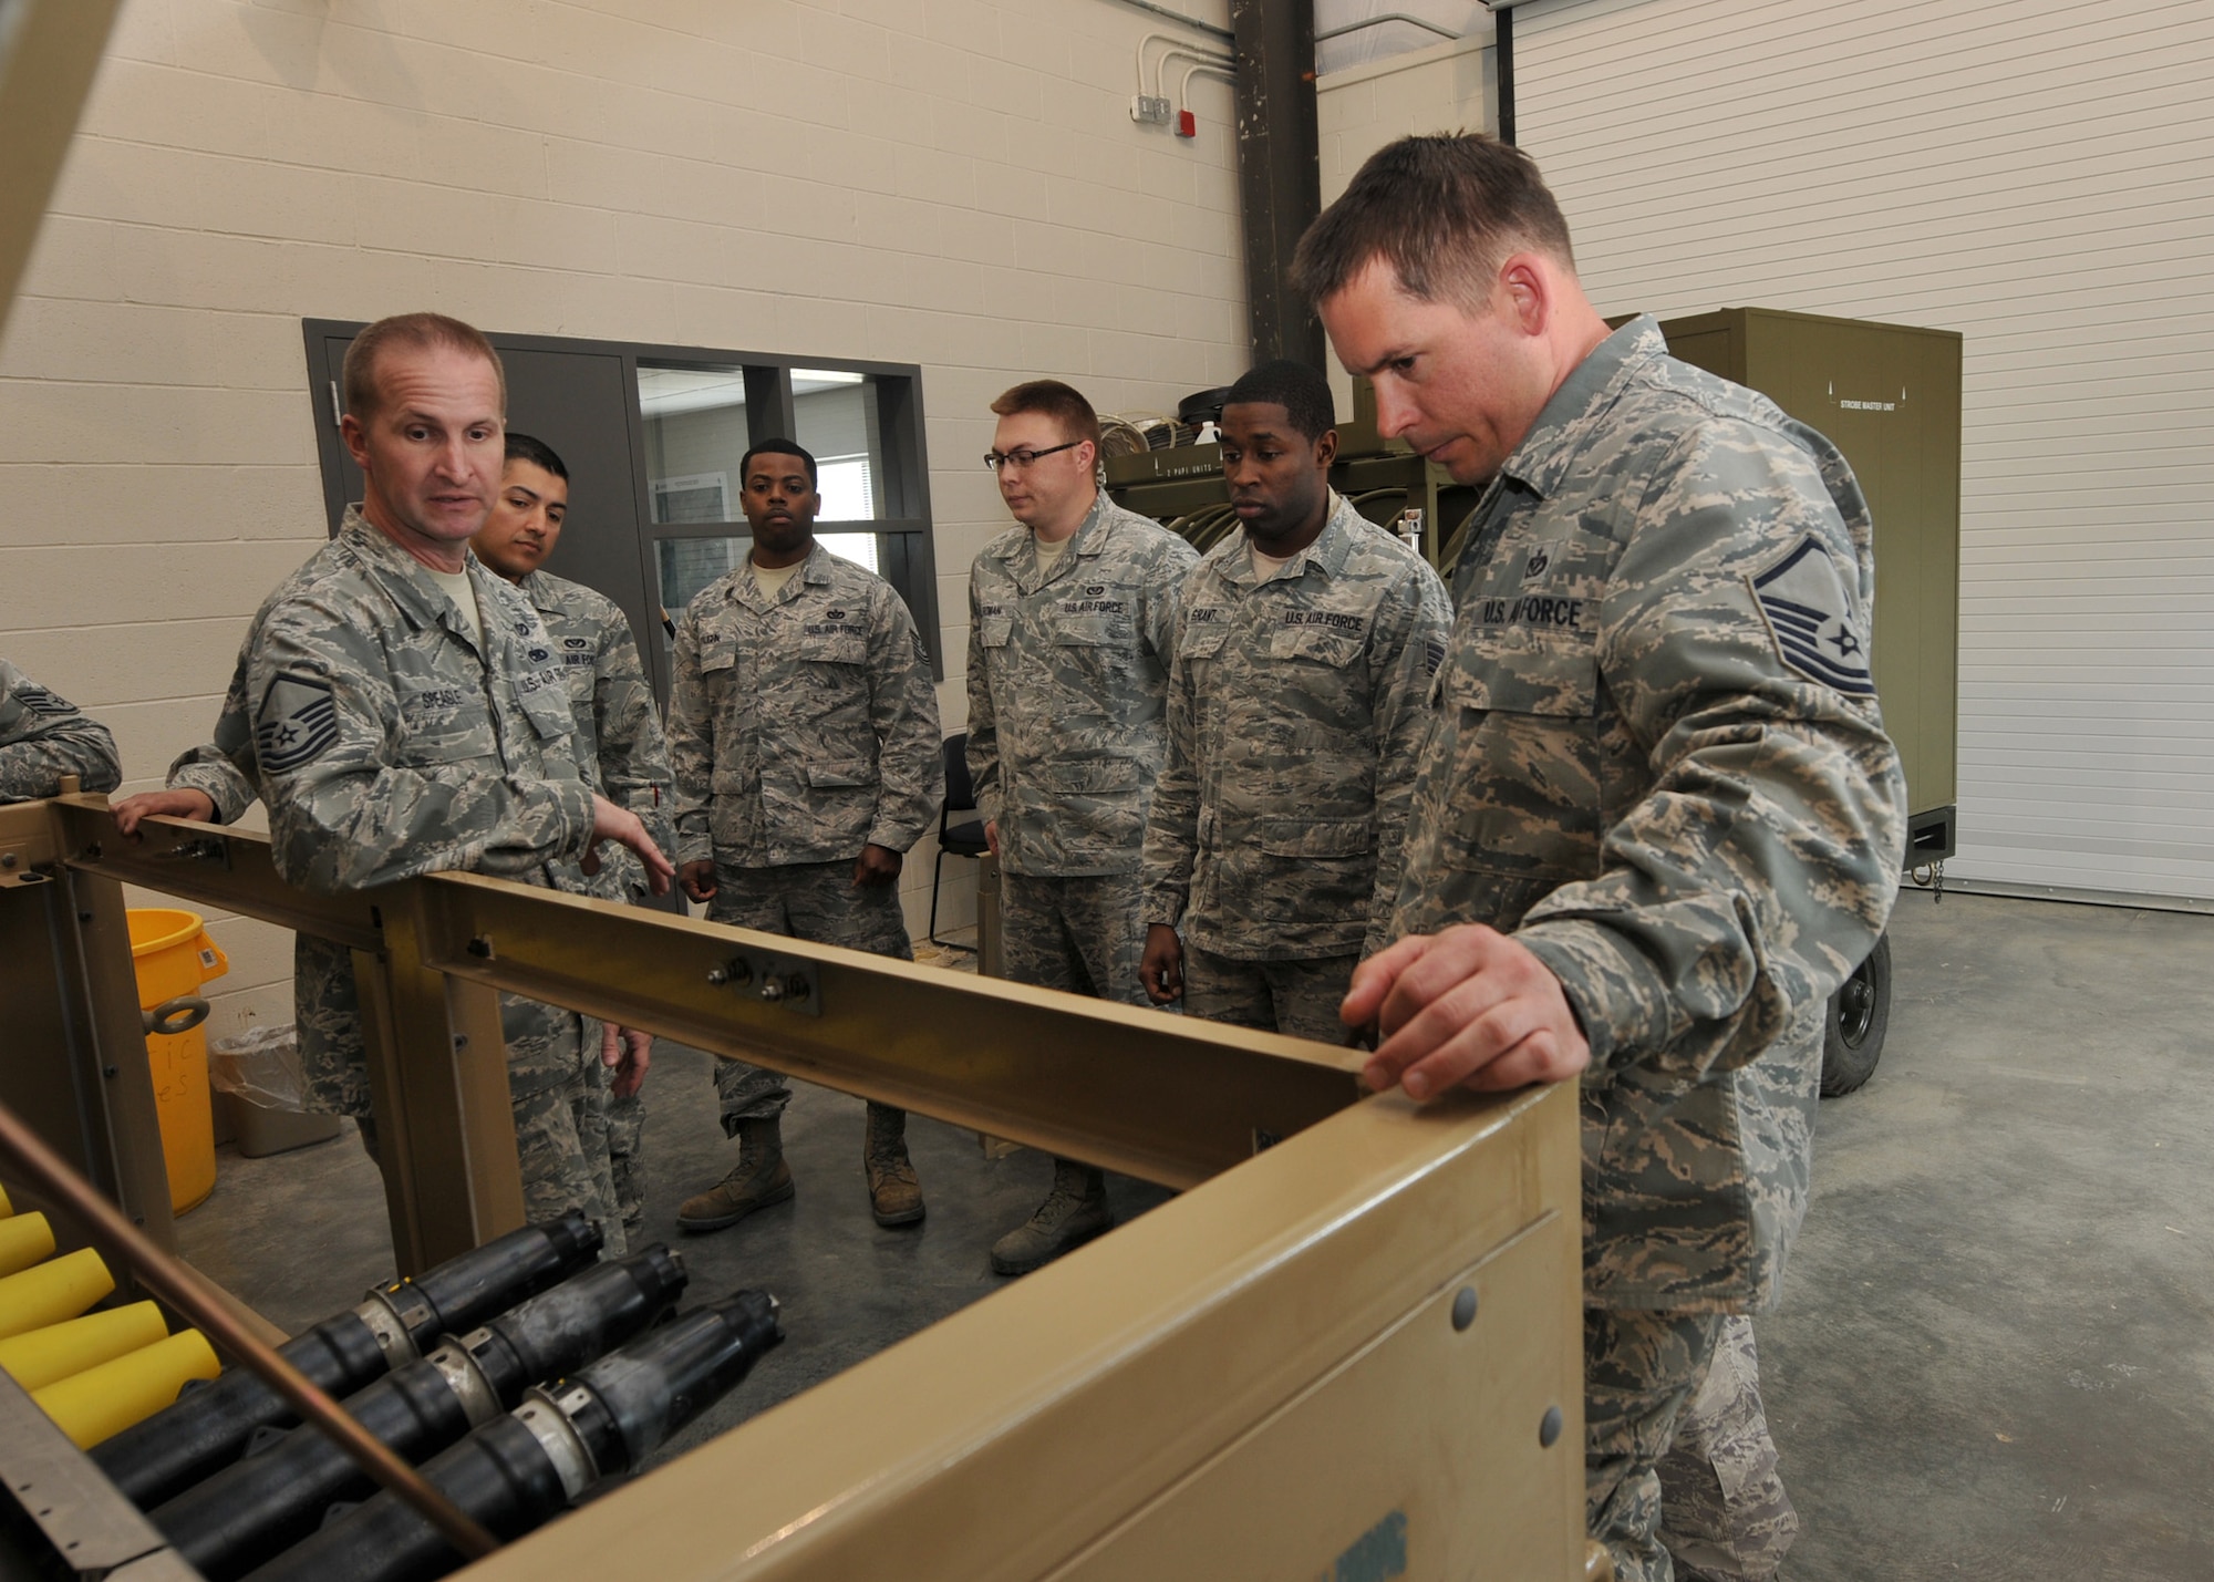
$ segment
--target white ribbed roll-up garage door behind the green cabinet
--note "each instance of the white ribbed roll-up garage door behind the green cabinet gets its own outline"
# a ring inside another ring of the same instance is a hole
[[[1532,0],[1603,312],[1966,337],[1959,857],[2214,897],[2214,4]]]

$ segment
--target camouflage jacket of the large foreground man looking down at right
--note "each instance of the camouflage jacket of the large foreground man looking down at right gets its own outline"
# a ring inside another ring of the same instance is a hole
[[[1824,1001],[1904,855],[1873,589],[1838,450],[1652,319],[1477,505],[1395,933],[1512,931],[1568,990],[1594,1307],[1776,1298]]]

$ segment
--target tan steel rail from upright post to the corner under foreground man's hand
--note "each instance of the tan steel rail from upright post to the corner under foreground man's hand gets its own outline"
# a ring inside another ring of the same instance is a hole
[[[467,873],[418,884],[441,973],[1162,1185],[1359,1097],[1362,1057],[1304,1039]]]

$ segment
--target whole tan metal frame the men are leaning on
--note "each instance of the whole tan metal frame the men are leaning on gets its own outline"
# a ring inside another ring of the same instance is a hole
[[[1572,1090],[1417,1110],[1351,1050],[476,875],[312,897],[100,798],[9,840],[354,946],[423,1259],[520,1223],[500,990],[1193,1188],[469,1575],[1583,1575]]]

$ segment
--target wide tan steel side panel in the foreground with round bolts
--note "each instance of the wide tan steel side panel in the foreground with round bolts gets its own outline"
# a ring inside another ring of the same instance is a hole
[[[465,1575],[1579,1578],[1579,1165],[1370,1099]]]

